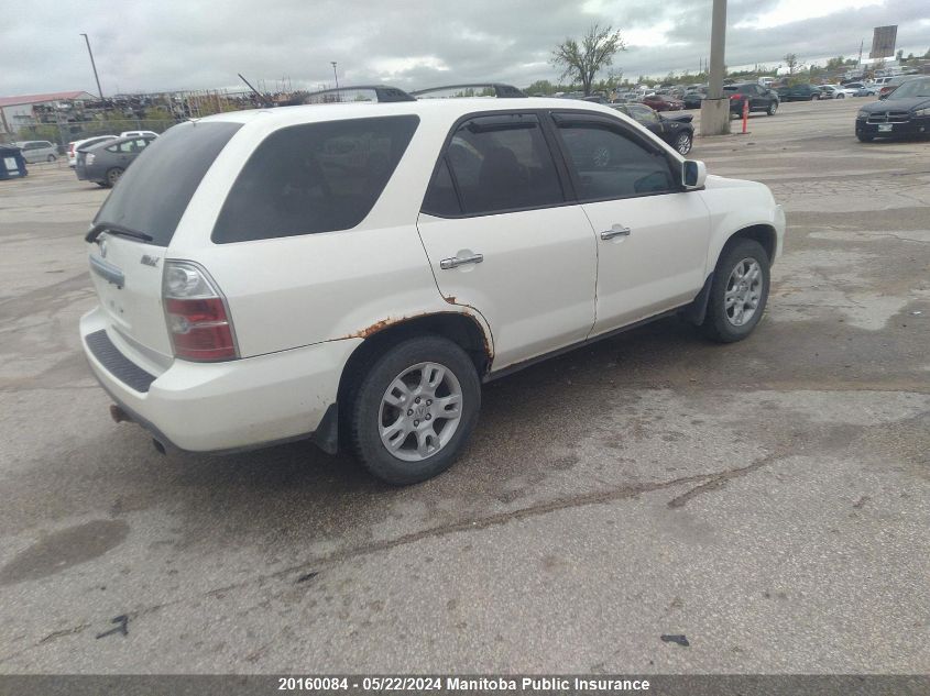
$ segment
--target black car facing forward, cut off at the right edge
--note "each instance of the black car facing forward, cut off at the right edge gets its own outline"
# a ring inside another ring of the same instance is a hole
[[[856,114],[856,137],[930,135],[930,77],[918,77],[897,87],[887,98],[873,101]]]

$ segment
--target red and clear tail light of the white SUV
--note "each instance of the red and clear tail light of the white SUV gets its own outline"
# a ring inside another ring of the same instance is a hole
[[[239,357],[226,298],[189,261],[165,262],[162,298],[175,357],[216,362]]]

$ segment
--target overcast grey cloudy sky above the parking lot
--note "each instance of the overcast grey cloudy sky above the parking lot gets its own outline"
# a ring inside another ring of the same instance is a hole
[[[697,70],[712,0],[11,0],[0,20],[0,96],[105,95],[234,87],[237,73],[273,90],[332,81],[416,88],[558,77],[552,46],[590,23],[621,30],[628,77]],[[730,0],[726,63],[857,55],[872,29],[898,24],[898,47],[930,48],[930,0]]]

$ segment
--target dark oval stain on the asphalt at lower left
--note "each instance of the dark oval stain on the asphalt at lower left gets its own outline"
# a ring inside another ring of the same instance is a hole
[[[129,534],[123,520],[92,520],[43,537],[0,568],[0,586],[55,575],[120,545]]]

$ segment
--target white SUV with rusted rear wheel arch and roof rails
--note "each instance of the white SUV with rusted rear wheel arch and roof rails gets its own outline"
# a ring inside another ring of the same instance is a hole
[[[672,312],[748,335],[784,232],[768,188],[599,104],[225,113],[97,213],[80,332],[161,451],[313,438],[408,484],[462,450],[484,380]]]

